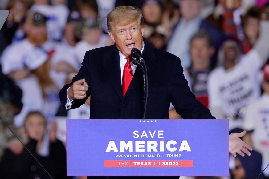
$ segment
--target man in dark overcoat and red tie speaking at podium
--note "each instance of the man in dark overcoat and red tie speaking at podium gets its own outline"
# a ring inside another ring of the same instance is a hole
[[[169,119],[170,102],[183,119],[215,119],[190,91],[180,58],[153,48],[143,38],[140,9],[118,6],[108,14],[107,23],[115,45],[86,52],[78,74],[60,91],[65,109],[78,108],[91,95],[90,119],[142,119],[143,73],[131,55],[132,48],[137,48],[148,72],[146,119]],[[231,135],[230,153],[250,155],[251,147],[238,138],[244,134]]]

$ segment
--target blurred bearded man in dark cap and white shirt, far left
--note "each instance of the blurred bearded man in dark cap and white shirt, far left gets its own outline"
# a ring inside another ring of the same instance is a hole
[[[27,14],[23,25],[26,38],[4,50],[1,56],[2,72],[15,81],[25,78],[29,73],[25,67],[26,58],[34,57],[38,61],[43,51],[51,58],[51,78],[61,88],[67,74],[76,72],[77,65],[60,43],[48,40],[46,21],[47,18],[41,13]]]

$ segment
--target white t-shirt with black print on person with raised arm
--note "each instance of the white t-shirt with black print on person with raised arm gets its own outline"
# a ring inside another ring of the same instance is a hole
[[[225,70],[223,66],[214,69],[209,74],[207,82],[209,108],[221,108],[223,118],[227,118],[229,114],[238,115],[242,107],[246,107],[260,96],[261,65],[259,54],[251,50],[241,57],[233,69]],[[233,121],[229,122],[231,128],[240,127],[232,126]]]

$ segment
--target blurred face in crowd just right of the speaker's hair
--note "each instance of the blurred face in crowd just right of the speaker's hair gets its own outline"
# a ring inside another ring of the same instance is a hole
[[[161,21],[161,7],[157,3],[145,3],[142,6],[142,13],[145,22],[157,25]]]

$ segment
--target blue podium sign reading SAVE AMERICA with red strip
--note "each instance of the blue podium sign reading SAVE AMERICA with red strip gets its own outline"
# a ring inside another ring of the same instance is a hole
[[[228,120],[67,120],[67,176],[229,176]]]

